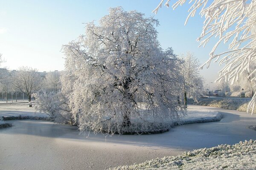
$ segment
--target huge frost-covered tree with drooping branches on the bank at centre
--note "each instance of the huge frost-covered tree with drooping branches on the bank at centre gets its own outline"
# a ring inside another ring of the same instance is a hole
[[[63,46],[66,73],[62,91],[79,129],[137,133],[179,119],[178,59],[157,40],[158,21],[137,11],[110,8],[99,25]]]

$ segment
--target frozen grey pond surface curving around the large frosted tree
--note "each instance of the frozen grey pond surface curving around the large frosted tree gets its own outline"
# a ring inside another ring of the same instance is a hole
[[[256,139],[256,115],[204,106],[223,112],[220,122],[177,126],[154,135],[79,135],[77,127],[36,120],[8,121],[0,129],[0,170],[102,170],[141,163],[184,150]]]

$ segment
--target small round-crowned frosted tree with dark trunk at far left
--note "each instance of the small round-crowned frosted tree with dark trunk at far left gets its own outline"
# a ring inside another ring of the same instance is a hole
[[[42,87],[42,77],[36,69],[29,67],[20,67],[18,71],[12,74],[12,84],[21,92],[26,94],[29,99],[29,107],[32,107],[31,95]]]

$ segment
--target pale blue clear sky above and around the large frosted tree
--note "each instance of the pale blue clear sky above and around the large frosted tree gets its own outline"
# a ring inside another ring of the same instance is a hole
[[[137,10],[146,17],[159,20],[159,41],[162,48],[172,47],[176,54],[191,51],[204,63],[214,41],[198,48],[203,19],[197,15],[184,26],[189,5],[162,7],[151,13],[160,0],[0,0],[0,53],[6,59],[3,66],[17,69],[30,66],[39,71],[64,70],[61,45],[84,34],[84,24],[108,14],[108,8],[122,6]],[[171,1],[170,5],[174,1]],[[224,47],[221,47],[224,48]],[[223,51],[223,49],[221,49]],[[206,83],[213,82],[220,67],[212,64],[201,71]]]

